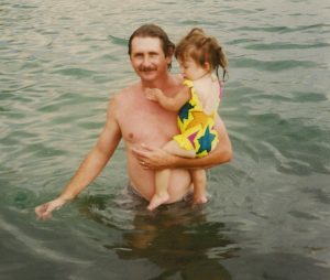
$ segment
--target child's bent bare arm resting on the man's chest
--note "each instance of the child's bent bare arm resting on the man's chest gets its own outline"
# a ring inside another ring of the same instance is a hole
[[[145,94],[147,99],[158,103],[163,108],[170,111],[178,111],[190,99],[188,87],[184,87],[174,97],[167,97],[158,88],[146,88]]]

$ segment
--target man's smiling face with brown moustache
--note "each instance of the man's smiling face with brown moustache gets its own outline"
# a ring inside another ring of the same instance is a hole
[[[167,72],[172,57],[165,57],[158,37],[134,37],[131,49],[131,64],[145,82],[154,82]]]

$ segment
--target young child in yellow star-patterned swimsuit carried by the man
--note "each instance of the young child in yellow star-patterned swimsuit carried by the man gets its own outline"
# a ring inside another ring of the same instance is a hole
[[[147,88],[146,97],[167,110],[178,111],[180,134],[175,136],[163,149],[185,158],[204,157],[211,152],[219,141],[213,129],[222,93],[218,68],[222,67],[224,77],[227,57],[217,40],[207,36],[201,29],[193,29],[178,43],[175,57],[184,76],[184,89],[169,98],[161,89]],[[217,73],[217,76],[213,73]],[[167,169],[156,172],[156,191],[147,206],[150,211],[168,201],[169,175],[170,170]],[[206,203],[205,170],[190,170],[190,175],[194,183],[194,203]]]

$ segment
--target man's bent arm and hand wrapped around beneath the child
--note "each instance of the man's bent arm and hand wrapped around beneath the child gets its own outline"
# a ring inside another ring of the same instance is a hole
[[[144,169],[208,169],[229,162],[232,159],[232,146],[223,121],[218,116],[215,126],[219,142],[217,148],[206,157],[187,159],[167,153],[162,148],[142,147],[133,152]]]

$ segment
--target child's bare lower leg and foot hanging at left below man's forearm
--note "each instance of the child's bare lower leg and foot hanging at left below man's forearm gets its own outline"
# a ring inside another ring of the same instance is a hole
[[[156,207],[158,207],[161,204],[164,204],[169,200],[169,195],[167,192],[169,176],[170,176],[169,169],[156,171],[155,174],[156,192],[151,198],[147,209],[153,211]]]

